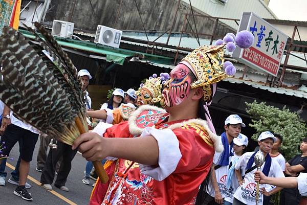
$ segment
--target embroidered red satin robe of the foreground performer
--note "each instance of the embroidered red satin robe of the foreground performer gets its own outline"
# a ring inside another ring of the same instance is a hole
[[[170,122],[167,125],[174,123],[177,122]],[[156,128],[165,128],[165,124],[160,122],[156,124]],[[199,186],[210,170],[214,148],[212,144],[207,143],[211,140],[206,130],[200,125],[178,127],[173,129],[173,132],[179,140],[182,158],[172,174],[162,181],[157,181],[141,174],[137,163],[119,159],[118,166],[115,168],[117,174],[112,179],[110,177],[111,182],[106,194],[106,186],[101,183],[96,185],[97,190],[94,191],[90,204],[101,204],[103,195],[105,197],[102,204],[108,205],[184,205],[195,201]],[[104,136],[133,137],[129,133],[128,122],[108,128]]]

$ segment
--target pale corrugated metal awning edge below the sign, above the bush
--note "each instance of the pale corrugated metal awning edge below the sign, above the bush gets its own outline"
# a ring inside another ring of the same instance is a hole
[[[224,79],[223,81],[227,81],[230,83],[238,83],[238,84],[244,83],[244,84],[250,85],[255,88],[268,90],[271,93],[277,93],[277,94],[283,94],[287,96],[295,96],[298,98],[307,99],[307,90],[305,89],[295,90],[295,89],[289,89],[289,88],[284,88],[284,87],[269,87],[264,84],[260,84],[258,82],[245,81],[245,80],[240,80],[240,79],[235,79],[235,78],[227,78],[227,79]]]

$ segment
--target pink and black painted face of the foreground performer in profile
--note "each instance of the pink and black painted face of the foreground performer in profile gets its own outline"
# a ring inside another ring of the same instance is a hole
[[[192,73],[184,64],[178,64],[170,72],[170,79],[164,84],[161,105],[172,107],[182,103],[190,93]]]

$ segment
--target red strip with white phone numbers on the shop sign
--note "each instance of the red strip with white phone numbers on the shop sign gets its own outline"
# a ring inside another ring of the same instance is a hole
[[[274,74],[278,71],[278,61],[253,48],[245,49],[242,57]]]

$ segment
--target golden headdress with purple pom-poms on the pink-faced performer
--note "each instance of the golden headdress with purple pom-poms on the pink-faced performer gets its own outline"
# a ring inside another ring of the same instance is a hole
[[[224,49],[233,52],[236,44],[246,49],[253,41],[254,36],[249,31],[240,31],[237,36],[228,33],[223,40],[217,40],[216,45],[203,45],[189,53],[180,63],[188,66],[196,77],[196,81],[191,83],[191,88],[202,87],[205,102],[211,101],[212,84],[232,77],[236,72],[230,61],[224,63]]]

